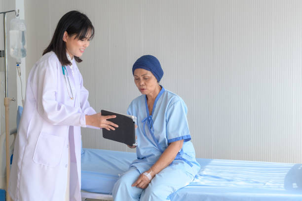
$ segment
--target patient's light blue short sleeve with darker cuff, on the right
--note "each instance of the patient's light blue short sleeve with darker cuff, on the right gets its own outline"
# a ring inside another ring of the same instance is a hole
[[[182,99],[172,101],[166,112],[166,135],[168,144],[191,139],[187,120],[187,106]]]

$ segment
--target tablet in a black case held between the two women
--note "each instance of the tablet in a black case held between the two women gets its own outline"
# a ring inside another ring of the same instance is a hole
[[[101,110],[103,116],[115,115],[116,118],[108,119],[117,124],[118,127],[115,130],[107,130],[102,128],[103,137],[116,142],[121,142],[129,146],[136,145],[135,140],[135,123],[136,117],[131,115],[123,115],[119,113],[114,113],[111,111]]]

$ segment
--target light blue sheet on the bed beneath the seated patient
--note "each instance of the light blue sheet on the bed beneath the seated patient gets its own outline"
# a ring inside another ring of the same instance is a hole
[[[135,153],[83,149],[82,190],[111,194]],[[302,201],[302,164],[197,159],[194,181],[172,201]]]

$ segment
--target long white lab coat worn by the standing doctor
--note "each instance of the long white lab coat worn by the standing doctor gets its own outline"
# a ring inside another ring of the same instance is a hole
[[[64,201],[70,146],[70,201],[80,201],[81,133],[89,106],[88,91],[75,60],[66,67],[73,89],[67,92],[62,65],[54,52],[43,55],[31,70],[23,115],[15,142],[9,180],[14,201]],[[68,90],[69,84],[67,81]]]

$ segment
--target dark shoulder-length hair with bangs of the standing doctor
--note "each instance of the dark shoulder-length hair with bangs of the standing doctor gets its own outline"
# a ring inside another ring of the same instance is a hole
[[[57,24],[57,28],[53,34],[48,47],[43,51],[43,54],[54,51],[62,65],[70,65],[71,63],[66,56],[66,42],[63,40],[64,33],[69,36],[76,35],[75,39],[82,40],[91,34],[90,40],[94,36],[94,27],[89,18],[76,10],[70,11],[63,15]],[[82,60],[75,56],[77,62]]]

